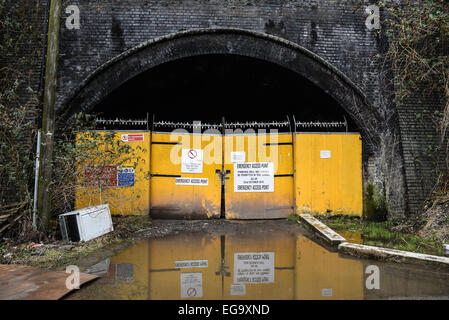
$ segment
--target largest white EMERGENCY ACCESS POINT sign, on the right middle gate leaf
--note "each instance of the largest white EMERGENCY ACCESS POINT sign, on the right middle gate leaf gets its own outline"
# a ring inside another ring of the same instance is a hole
[[[273,162],[234,163],[234,192],[274,192]]]

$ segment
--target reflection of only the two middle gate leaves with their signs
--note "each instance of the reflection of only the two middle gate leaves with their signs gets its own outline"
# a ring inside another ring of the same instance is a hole
[[[149,299],[293,299],[295,237],[274,232],[257,234],[184,234],[149,240]],[[236,257],[260,257],[259,267]],[[260,272],[265,276],[246,275]],[[248,268],[251,271],[248,271]],[[247,279],[242,279],[239,274]],[[263,279],[266,277],[267,279]]]

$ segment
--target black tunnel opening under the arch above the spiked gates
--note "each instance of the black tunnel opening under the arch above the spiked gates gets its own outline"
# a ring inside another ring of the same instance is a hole
[[[303,122],[346,118],[348,131],[358,131],[344,109],[307,79],[276,64],[237,55],[202,55],[157,66],[124,83],[94,113],[107,119],[144,119],[147,114],[152,119],[154,114],[156,121],[215,124],[223,117],[226,122],[285,121],[287,115]]]

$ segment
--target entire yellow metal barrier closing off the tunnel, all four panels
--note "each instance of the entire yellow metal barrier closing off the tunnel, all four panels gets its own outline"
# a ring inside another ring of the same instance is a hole
[[[107,202],[112,214],[176,219],[362,215],[360,134],[114,131],[77,141],[93,150],[77,166],[76,209]],[[114,156],[119,141],[132,152]]]

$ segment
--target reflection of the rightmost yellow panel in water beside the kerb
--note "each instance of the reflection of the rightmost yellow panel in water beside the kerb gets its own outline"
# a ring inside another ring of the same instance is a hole
[[[343,259],[302,235],[296,241],[295,299],[361,300],[363,263]]]

